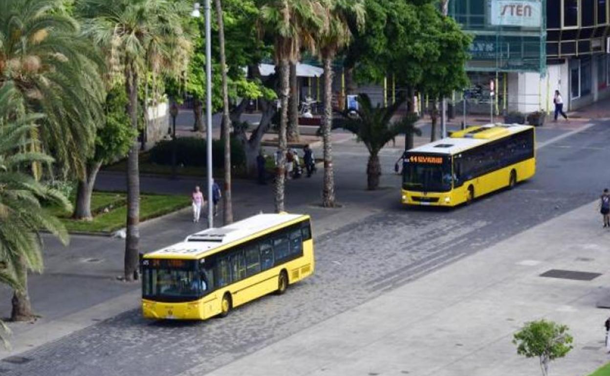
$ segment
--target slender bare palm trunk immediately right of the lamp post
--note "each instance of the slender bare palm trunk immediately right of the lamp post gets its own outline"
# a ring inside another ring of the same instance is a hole
[[[231,202],[231,118],[229,116],[229,94],[226,71],[226,55],[224,54],[224,20],[220,0],[214,0],[218,19],[218,44],[220,44],[220,72],[223,80],[223,141],[224,141],[224,224],[233,222],[233,207]]]

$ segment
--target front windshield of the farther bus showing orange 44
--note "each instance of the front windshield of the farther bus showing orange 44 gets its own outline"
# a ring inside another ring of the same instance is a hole
[[[446,192],[451,182],[450,155],[407,153],[404,158],[404,190]]]

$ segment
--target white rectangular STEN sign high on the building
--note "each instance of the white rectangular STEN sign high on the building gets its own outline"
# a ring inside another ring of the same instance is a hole
[[[496,26],[540,27],[539,0],[492,0],[490,24]]]

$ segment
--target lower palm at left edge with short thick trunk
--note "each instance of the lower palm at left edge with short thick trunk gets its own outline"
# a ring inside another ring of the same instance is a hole
[[[27,271],[40,272],[43,266],[40,231],[68,243],[62,222],[44,210],[40,201],[64,210],[71,205],[61,193],[23,172],[33,163],[53,159],[40,152],[24,152],[38,142],[29,135],[43,116],[21,115],[24,107],[15,87],[10,81],[0,87],[0,282],[14,290],[11,319],[26,321],[35,317],[27,292]]]

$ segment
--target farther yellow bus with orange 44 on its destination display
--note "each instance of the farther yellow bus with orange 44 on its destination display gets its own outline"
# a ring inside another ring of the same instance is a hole
[[[403,155],[402,202],[453,207],[536,172],[534,127],[468,127]]]

